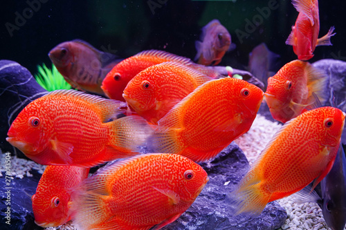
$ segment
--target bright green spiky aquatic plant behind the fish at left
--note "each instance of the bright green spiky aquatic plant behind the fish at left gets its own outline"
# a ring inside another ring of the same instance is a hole
[[[59,73],[57,68],[52,64],[52,68],[48,68],[46,64],[37,66],[38,73],[35,74],[37,83],[48,91],[58,89],[71,89],[71,85],[67,83],[64,77]]]

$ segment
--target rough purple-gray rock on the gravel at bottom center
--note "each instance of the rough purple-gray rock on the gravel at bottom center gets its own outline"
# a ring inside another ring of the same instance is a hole
[[[165,230],[277,229],[286,220],[286,211],[277,202],[269,203],[261,215],[248,220],[229,216],[226,194],[233,191],[249,169],[248,160],[237,144],[230,144],[215,159],[201,163],[210,178],[192,206]]]

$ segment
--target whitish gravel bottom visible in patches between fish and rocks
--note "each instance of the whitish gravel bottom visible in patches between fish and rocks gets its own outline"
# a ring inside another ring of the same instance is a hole
[[[250,164],[255,162],[258,155],[264,149],[266,144],[271,140],[271,137],[281,127],[277,122],[271,122],[265,119],[262,115],[257,115],[253,126],[248,133],[239,137],[235,142],[244,151]],[[0,177],[3,176],[5,154],[1,157]],[[24,176],[33,176],[30,174],[31,169],[36,169],[43,173],[45,166],[36,164],[35,162],[12,157],[12,174],[13,177],[23,178]],[[295,195],[278,200],[278,202],[286,209],[288,217],[280,229],[329,229],[322,216],[322,211],[315,203],[298,204],[293,202]],[[74,230],[75,227],[71,222],[64,224],[61,227],[50,227],[48,230]],[[346,229],[346,228],[345,228]]]

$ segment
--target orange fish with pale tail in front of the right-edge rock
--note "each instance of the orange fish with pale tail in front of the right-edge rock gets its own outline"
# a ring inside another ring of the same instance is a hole
[[[265,100],[274,119],[285,123],[315,103],[327,99],[327,76],[309,62],[295,60],[268,78]]]

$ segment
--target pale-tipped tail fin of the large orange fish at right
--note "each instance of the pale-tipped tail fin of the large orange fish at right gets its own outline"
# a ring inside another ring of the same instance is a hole
[[[271,194],[261,190],[262,182],[256,174],[255,171],[249,171],[239,182],[237,189],[228,194],[228,213],[230,215],[244,213],[250,218],[255,218],[266,207]]]

